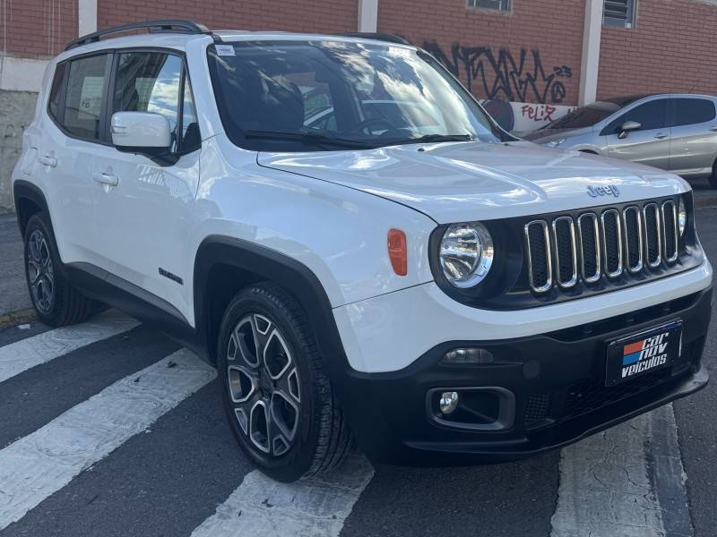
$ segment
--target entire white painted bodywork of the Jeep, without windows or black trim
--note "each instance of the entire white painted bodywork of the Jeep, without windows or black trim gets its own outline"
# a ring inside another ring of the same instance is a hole
[[[222,38],[316,36],[222,32]],[[249,241],[297,260],[324,286],[350,364],[395,371],[451,339],[523,337],[644,308],[710,286],[712,268],[525,311],[482,311],[432,282],[428,238],[436,223],[542,214],[609,203],[587,186],[611,185],[619,201],[687,192],[676,175],[528,142],[423,144],[361,151],[259,153],[223,132],[208,75],[208,36],[154,34],[101,41],[51,62],[107,47],[186,52],[203,147],[176,165],[67,138],[48,119],[47,91],[13,173],[44,192],[61,259],[82,261],[160,297],[194,327],[194,262],[210,235]],[[35,151],[35,153],[33,153]],[[28,156],[52,154],[48,167]],[[92,181],[118,175],[117,186]],[[389,229],[407,235],[408,276],[393,273]],[[184,285],[160,277],[162,267]]]

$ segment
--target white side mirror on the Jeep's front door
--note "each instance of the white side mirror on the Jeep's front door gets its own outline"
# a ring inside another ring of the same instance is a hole
[[[157,156],[166,153],[172,143],[168,119],[151,112],[116,112],[110,132],[120,151]]]

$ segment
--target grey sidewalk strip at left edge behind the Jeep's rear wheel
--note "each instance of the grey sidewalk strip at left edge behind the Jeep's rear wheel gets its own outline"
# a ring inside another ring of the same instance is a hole
[[[0,328],[34,318],[15,215],[0,215]]]

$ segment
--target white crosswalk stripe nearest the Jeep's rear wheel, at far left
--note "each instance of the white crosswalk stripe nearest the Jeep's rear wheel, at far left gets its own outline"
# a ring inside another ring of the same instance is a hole
[[[136,320],[118,311],[107,311],[80,325],[56,328],[0,347],[0,382],[138,325]]]

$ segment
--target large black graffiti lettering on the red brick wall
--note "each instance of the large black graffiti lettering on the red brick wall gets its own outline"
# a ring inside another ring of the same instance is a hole
[[[567,97],[566,81],[573,77],[567,65],[544,67],[539,50],[465,47],[454,43],[445,53],[436,41],[423,47],[461,80],[466,88],[488,99],[558,104]]]

